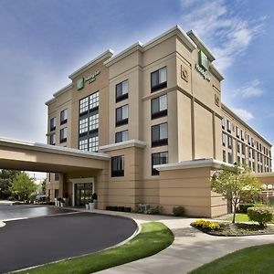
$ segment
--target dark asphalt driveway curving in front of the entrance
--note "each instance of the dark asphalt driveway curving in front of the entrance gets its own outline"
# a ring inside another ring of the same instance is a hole
[[[136,228],[131,219],[92,213],[9,221],[0,229],[0,273],[109,248]]]

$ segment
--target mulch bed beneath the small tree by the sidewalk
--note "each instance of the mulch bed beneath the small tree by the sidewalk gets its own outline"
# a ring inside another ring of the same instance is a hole
[[[190,224],[192,227],[199,229],[206,234],[213,236],[227,236],[227,237],[237,237],[237,236],[254,236],[254,235],[269,235],[274,234],[274,226],[268,225],[267,227],[262,227],[258,224],[246,224],[246,223],[217,223],[220,225],[220,229],[210,230],[204,229],[202,227],[196,227],[195,223]]]

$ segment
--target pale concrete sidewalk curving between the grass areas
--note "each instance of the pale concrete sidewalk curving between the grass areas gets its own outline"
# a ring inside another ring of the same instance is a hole
[[[104,210],[94,210],[92,212],[128,216],[138,224],[159,221],[169,227],[175,236],[174,243],[158,254],[97,272],[100,274],[183,274],[237,249],[274,243],[273,235],[248,237],[209,236],[194,227],[190,227],[190,223],[195,221],[193,218],[147,216]]]

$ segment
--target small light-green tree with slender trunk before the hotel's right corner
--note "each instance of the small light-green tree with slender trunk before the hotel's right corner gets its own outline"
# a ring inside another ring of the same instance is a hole
[[[233,219],[235,223],[237,205],[242,195],[255,195],[262,189],[262,184],[251,174],[249,167],[238,163],[233,168],[223,167],[210,179],[212,190],[223,195],[232,203]]]

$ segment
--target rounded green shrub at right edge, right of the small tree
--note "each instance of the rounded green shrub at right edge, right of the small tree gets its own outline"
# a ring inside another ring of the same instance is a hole
[[[265,226],[273,219],[273,208],[271,207],[249,207],[248,218],[250,221],[258,222],[259,225]]]

